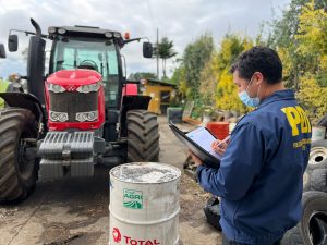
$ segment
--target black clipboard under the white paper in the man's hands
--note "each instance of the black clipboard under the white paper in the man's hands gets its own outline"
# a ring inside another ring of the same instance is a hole
[[[181,143],[183,143],[189,149],[191,149],[192,152],[194,152],[201,160],[203,160],[205,166],[207,166],[209,168],[214,168],[214,169],[219,169],[219,167],[220,167],[219,158],[213,156],[207,150],[205,150],[203,147],[197,145],[194,140],[192,140],[190,137],[187,137],[183,131],[178,128],[173,123],[170,122],[169,127],[172,131],[172,133],[177,136],[177,138],[180,139]]]

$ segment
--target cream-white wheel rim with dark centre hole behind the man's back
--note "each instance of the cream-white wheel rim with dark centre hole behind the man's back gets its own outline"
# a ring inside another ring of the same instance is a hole
[[[327,168],[327,139],[316,140],[311,145],[307,169],[326,169]]]

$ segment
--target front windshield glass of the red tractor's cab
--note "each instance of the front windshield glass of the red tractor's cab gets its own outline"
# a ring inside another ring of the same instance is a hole
[[[106,107],[118,105],[119,62],[116,45],[110,40],[68,39],[53,44],[50,72],[92,69],[102,75]]]

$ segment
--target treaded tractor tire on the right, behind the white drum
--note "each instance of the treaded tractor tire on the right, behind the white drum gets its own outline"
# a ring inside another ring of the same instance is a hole
[[[128,161],[159,160],[159,125],[157,117],[146,110],[128,112]]]

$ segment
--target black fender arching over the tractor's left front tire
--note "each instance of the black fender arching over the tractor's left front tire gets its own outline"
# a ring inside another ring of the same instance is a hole
[[[45,132],[48,131],[45,110],[35,96],[23,93],[0,93],[0,97],[10,107],[23,108],[32,111],[38,122],[41,120]]]

